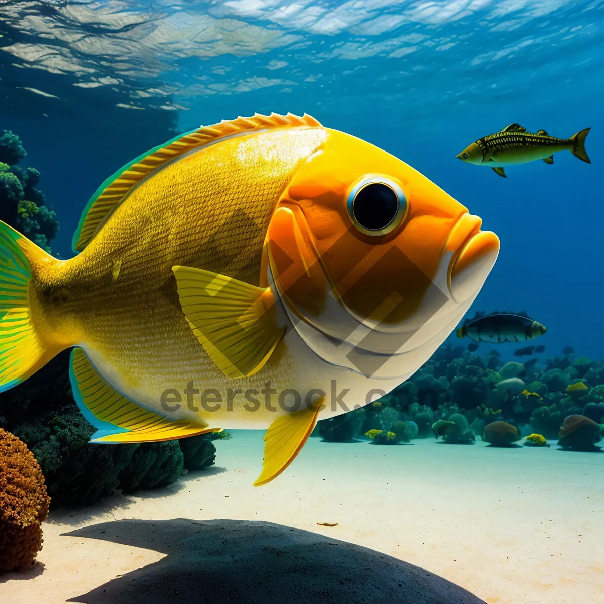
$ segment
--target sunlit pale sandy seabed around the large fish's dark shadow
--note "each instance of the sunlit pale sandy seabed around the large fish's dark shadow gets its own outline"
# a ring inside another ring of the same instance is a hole
[[[58,510],[0,602],[62,603],[164,554],[65,533],[112,519],[262,520],[418,565],[488,604],[604,602],[604,454],[518,447],[371,446],[309,439],[263,487],[263,432],[217,442],[217,466],[165,489]],[[338,523],[335,527],[318,522]]]

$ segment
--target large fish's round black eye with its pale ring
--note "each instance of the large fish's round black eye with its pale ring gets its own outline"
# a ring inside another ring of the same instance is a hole
[[[359,198],[359,194],[362,195],[363,191],[365,191],[365,195],[369,193],[368,187],[371,185],[382,185],[384,188],[379,187],[376,190],[375,199],[370,196]],[[387,189],[393,193],[390,199],[388,199]],[[363,207],[359,208],[357,203],[355,208],[355,202],[358,202],[359,199],[362,201]],[[380,203],[384,206],[376,205]],[[347,198],[348,215],[353,225],[361,233],[372,236],[385,235],[396,228],[405,217],[407,206],[407,199],[400,185],[381,174],[363,176],[352,186]],[[376,215],[372,215],[373,211]],[[380,212],[384,215],[380,216]],[[381,217],[382,220],[380,220]]]

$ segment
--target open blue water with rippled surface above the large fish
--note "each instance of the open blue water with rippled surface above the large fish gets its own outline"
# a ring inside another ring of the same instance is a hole
[[[602,358],[604,2],[0,3],[0,129],[71,237],[95,188],[174,132],[222,118],[307,112],[431,178],[501,238],[472,310],[527,310]],[[518,122],[570,137],[585,164],[510,167],[455,155]],[[512,349],[509,350],[512,352]]]

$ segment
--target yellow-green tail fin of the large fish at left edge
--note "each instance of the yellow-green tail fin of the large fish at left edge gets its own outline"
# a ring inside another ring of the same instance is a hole
[[[30,259],[57,262],[0,220],[0,392],[36,373],[58,352],[46,349],[31,321]]]

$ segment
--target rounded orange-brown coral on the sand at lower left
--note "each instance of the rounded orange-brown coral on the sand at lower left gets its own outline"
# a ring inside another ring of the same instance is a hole
[[[44,476],[25,443],[0,428],[0,571],[33,564],[48,516]]]

